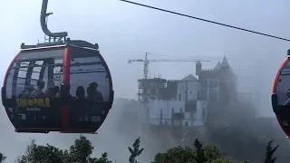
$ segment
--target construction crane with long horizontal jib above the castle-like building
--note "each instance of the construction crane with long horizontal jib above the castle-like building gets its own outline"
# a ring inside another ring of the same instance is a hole
[[[144,62],[143,66],[143,78],[148,79],[148,66],[149,62],[211,62],[211,60],[199,60],[199,59],[148,59],[148,54],[145,54],[145,59],[132,59],[128,60],[129,63],[131,62]]]

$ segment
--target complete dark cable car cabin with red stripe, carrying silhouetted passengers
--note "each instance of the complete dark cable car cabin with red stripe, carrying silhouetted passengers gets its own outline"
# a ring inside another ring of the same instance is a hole
[[[16,132],[94,133],[111,109],[111,73],[96,49],[23,49],[6,72],[2,101]]]

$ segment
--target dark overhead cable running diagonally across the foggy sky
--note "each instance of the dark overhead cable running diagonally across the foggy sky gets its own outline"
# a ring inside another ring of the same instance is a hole
[[[263,34],[263,33],[259,33],[259,32],[252,31],[252,30],[248,30],[248,29],[245,29],[245,28],[240,28],[240,27],[237,27],[237,26],[229,25],[229,24],[221,24],[221,23],[218,23],[218,22],[214,22],[214,21],[210,21],[210,20],[207,20],[207,19],[198,18],[198,17],[191,16],[191,15],[188,15],[188,14],[180,14],[180,13],[169,11],[169,10],[165,10],[165,9],[162,9],[162,8],[158,8],[158,7],[154,7],[154,6],[150,6],[150,5],[143,5],[143,4],[127,1],[127,0],[120,0],[120,1],[125,2],[125,3],[129,3],[129,4],[133,4],[133,5],[144,6],[144,7],[155,9],[155,10],[160,10],[162,12],[166,12],[166,13],[170,13],[170,14],[178,14],[180,16],[189,17],[189,18],[192,18],[192,19],[198,19],[200,21],[208,22],[210,24],[218,24],[218,25],[226,26],[226,27],[229,27],[229,28],[234,28],[234,29],[241,30],[241,31],[246,31],[248,33],[260,34],[260,35],[264,35],[264,36],[267,36],[267,37],[272,37],[272,38],[275,38],[275,39],[279,39],[279,40],[290,42],[289,39],[285,39],[285,38],[282,38],[282,37],[277,37],[275,35]]]

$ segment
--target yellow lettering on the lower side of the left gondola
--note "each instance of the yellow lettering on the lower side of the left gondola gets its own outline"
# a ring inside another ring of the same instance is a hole
[[[16,99],[17,107],[49,108],[49,98],[44,99]]]

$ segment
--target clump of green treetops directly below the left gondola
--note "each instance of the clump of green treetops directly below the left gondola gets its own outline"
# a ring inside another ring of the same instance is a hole
[[[105,152],[101,158],[92,158],[92,142],[84,136],[75,139],[70,149],[58,149],[52,145],[37,145],[35,139],[27,145],[22,157],[16,158],[17,163],[111,163]]]

